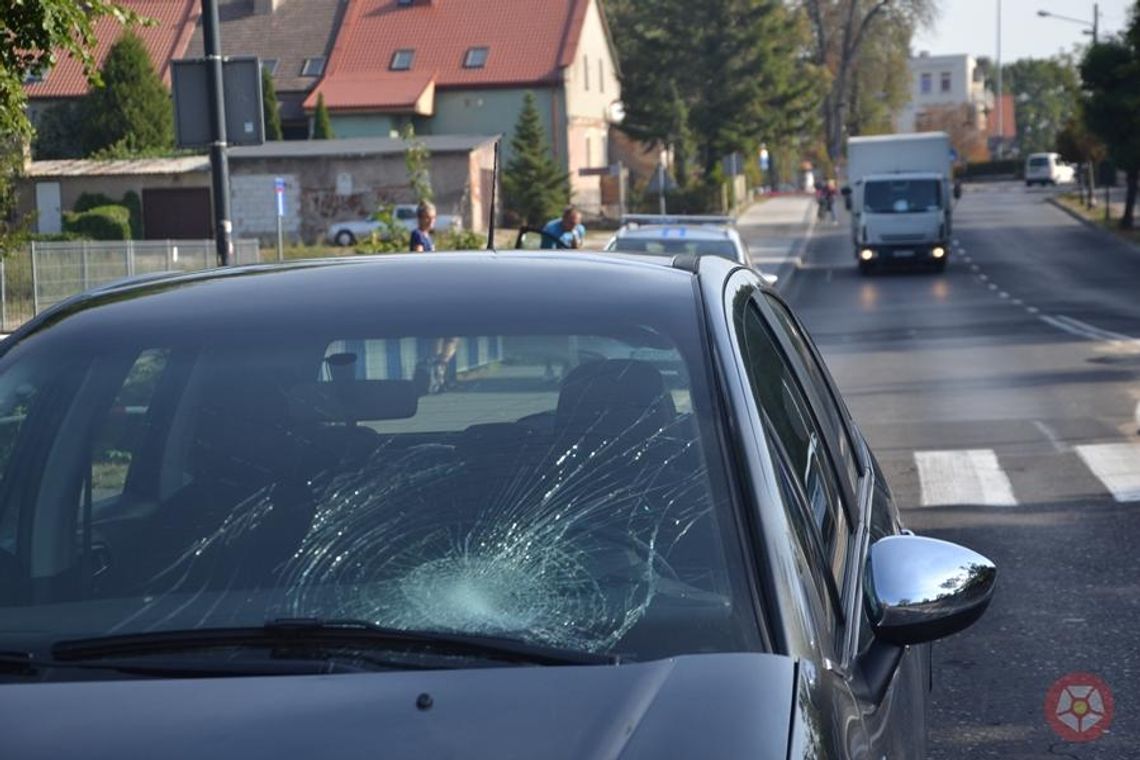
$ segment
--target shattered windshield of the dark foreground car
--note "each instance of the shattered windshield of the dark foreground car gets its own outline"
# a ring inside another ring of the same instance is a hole
[[[0,644],[316,618],[756,648],[694,356],[632,324],[9,356]]]

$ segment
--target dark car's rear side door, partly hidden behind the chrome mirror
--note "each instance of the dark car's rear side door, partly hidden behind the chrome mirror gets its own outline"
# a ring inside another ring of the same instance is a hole
[[[923,705],[929,683],[929,647],[902,649],[876,643],[862,593],[866,549],[879,538],[898,532],[897,510],[803,325],[774,293],[757,294],[756,301],[805,390],[829,441],[842,497],[854,507],[850,517],[856,538],[849,547],[844,595],[844,614],[850,626],[842,653],[852,690],[857,695],[877,753],[919,757],[926,743]],[[876,672],[868,672],[871,669]]]

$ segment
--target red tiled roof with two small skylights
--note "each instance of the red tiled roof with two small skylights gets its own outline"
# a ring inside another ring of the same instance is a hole
[[[349,0],[325,79],[332,109],[409,108],[434,77],[440,89],[557,82],[576,57],[592,0]],[[470,48],[488,48],[482,68],[464,68]],[[410,71],[389,70],[414,49]]]

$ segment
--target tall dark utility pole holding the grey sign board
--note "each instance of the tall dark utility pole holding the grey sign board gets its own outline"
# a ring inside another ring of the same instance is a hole
[[[218,0],[202,0],[202,39],[205,44],[206,89],[210,100],[210,175],[213,182],[214,244],[218,265],[234,263],[234,222],[229,206],[229,158],[226,156],[226,91],[222,83],[221,33]]]

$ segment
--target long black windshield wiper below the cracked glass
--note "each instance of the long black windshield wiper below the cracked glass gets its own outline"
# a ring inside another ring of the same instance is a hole
[[[512,638],[408,631],[384,628],[364,620],[317,618],[278,618],[261,627],[148,631],[72,639],[54,644],[51,656],[58,662],[75,662],[226,646],[405,651],[417,655],[438,654],[535,665],[597,665],[619,662],[617,655],[559,649]]]

